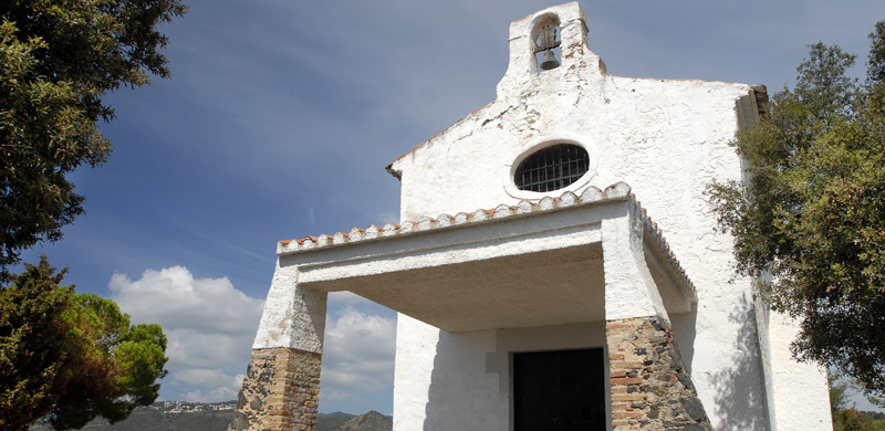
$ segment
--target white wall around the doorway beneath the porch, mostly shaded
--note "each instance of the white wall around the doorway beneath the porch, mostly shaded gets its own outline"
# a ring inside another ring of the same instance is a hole
[[[399,315],[396,329],[396,430],[508,430],[509,353],[605,348],[604,322],[449,334]]]

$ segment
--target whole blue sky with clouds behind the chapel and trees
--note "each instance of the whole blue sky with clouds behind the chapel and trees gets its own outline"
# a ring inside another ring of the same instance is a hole
[[[107,97],[87,213],[25,254],[170,338],[164,399],[235,399],[275,242],[398,220],[384,167],[494,98],[511,21],[555,2],[195,0],[170,80]],[[608,73],[792,84],[816,41],[865,61],[876,1],[582,1]],[[858,74],[862,73],[858,70]],[[491,202],[490,206],[497,202]],[[320,410],[392,412],[395,315],[330,298]],[[858,406],[860,407],[860,406]]]

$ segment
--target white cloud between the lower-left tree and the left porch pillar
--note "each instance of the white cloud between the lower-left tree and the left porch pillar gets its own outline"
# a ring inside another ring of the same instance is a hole
[[[168,338],[163,397],[186,401],[237,398],[263,301],[227,277],[195,278],[183,266],[147,270],[138,280],[114,274],[112,298],[133,323],[158,323]]]

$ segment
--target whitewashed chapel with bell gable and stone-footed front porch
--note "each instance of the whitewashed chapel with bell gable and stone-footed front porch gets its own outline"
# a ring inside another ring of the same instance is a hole
[[[550,53],[537,42],[549,27]],[[790,358],[793,324],[733,280],[704,195],[741,179],[729,143],[764,87],[610,75],[587,34],[576,2],[511,24],[496,101],[387,167],[400,224],[278,245],[231,429],[313,429],[325,296],[339,291],[399,313],[395,430],[546,429],[525,423],[548,417],[576,423],[550,429],[600,429],[597,417],[608,430],[829,429],[825,375]],[[544,55],[558,66],[539,69]],[[556,145],[583,148],[586,172],[520,189],[521,162]],[[535,375],[598,396],[563,387],[546,398],[577,412],[549,413],[524,396]]]

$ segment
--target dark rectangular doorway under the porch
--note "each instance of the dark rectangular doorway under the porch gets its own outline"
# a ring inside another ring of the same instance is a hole
[[[605,430],[605,372],[597,349],[513,354],[514,431]]]

